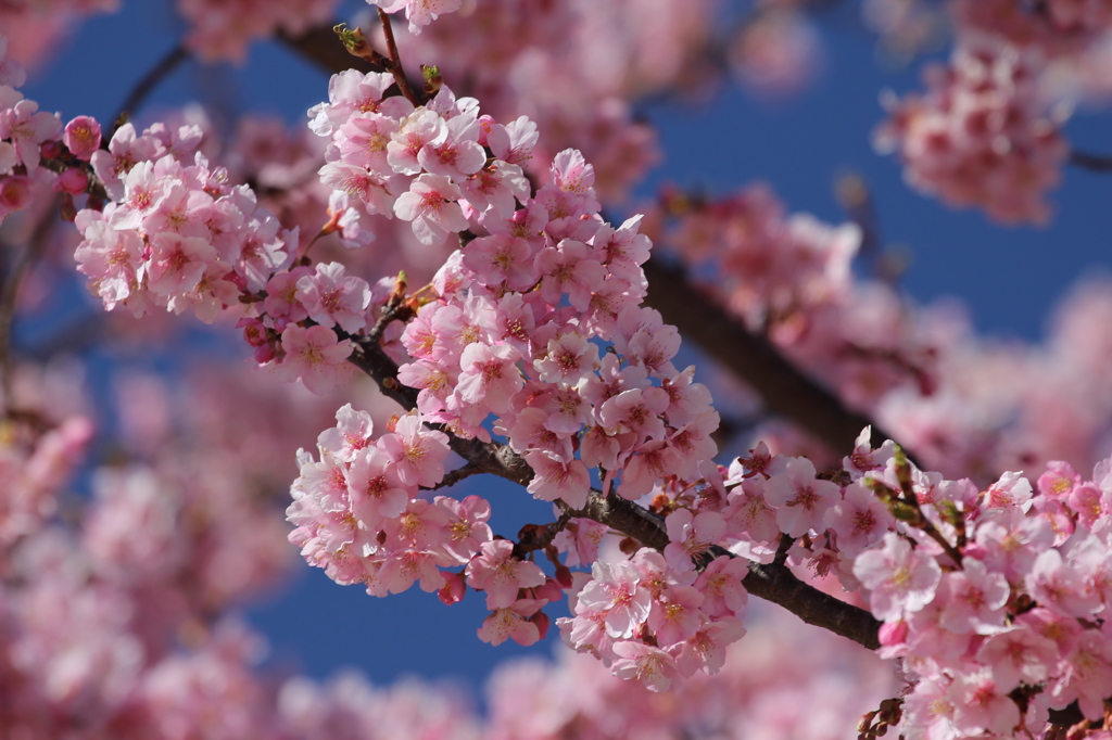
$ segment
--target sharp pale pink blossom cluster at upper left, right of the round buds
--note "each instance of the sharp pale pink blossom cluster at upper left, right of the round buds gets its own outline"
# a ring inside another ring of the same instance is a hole
[[[138,133],[125,123],[92,153],[113,200],[77,214],[85,239],[75,257],[107,310],[192,310],[211,322],[292,261],[297,230],[282,229],[249,187],[229,186],[196,151],[200,142],[197,126]]]

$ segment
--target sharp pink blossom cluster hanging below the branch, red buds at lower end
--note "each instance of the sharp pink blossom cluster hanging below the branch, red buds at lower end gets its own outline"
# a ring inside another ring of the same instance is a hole
[[[419,489],[444,479],[447,436],[428,429],[418,413],[391,422],[373,439],[370,416],[350,404],[337,426],[320,434],[319,460],[299,453],[300,477],[290,492],[289,539],[306,560],[341,584],[363,583],[373,596],[399,593],[419,583],[446,603],[469,586],[486,593],[492,614],[479,637],[494,644],[533,644],[548,621],[539,609],[562,598],[540,568],[515,554],[514,543],[494,539],[486,523],[490,503],[420,498]],[[463,567],[461,572],[447,571]]]

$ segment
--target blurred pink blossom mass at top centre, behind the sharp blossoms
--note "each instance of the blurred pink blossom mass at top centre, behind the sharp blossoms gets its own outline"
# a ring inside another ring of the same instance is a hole
[[[655,132],[636,120],[631,100],[718,78],[702,57],[716,6],[485,0],[399,43],[407,61],[467,80],[466,92],[495,118],[526,114],[537,123],[545,140],[523,163],[535,181],[557,152],[574,147],[595,166],[599,197],[619,202],[659,159]]]

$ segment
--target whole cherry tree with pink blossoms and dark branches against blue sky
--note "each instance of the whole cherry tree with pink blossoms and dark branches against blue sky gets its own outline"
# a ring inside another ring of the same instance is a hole
[[[117,3],[0,9],[7,737],[1112,733],[1110,286],[1003,344],[901,291],[862,178],[841,226],[761,183],[631,204],[636,106],[804,88],[826,3],[336,4],[179,0],[111,120],[41,110],[21,59]],[[1112,4],[860,6],[890,59],[945,40],[872,131],[911,188],[1045,226],[1112,168],[1066,129]],[[266,37],[330,73],[302,127],[136,116]],[[75,281],[96,312],[42,318]],[[485,714],[256,669],[237,609],[297,551],[368,610],[565,649]]]

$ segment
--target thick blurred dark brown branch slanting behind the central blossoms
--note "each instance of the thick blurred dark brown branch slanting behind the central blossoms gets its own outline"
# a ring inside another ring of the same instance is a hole
[[[726,316],[705,291],[687,281],[682,270],[666,267],[658,258],[651,259],[644,268],[648,280],[645,303],[752,386],[770,411],[786,417],[835,450],[852,450],[857,434],[868,426],[880,439],[894,439],[872,419],[847,409],[766,339]],[[907,458],[914,461],[911,452]]]

